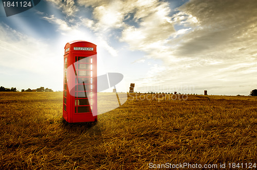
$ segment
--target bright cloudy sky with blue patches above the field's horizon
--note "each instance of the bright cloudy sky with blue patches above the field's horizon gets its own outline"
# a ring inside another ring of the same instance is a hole
[[[0,86],[63,90],[64,46],[97,45],[98,75],[118,92],[249,95],[257,89],[255,0],[42,0],[6,16],[0,4]],[[112,92],[113,88],[104,92]]]

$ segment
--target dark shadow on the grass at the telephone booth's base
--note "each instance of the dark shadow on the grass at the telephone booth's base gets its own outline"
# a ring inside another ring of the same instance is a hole
[[[62,118],[62,127],[69,133],[82,135],[88,133],[90,138],[97,138],[103,141],[102,132],[99,123],[96,122],[79,122],[79,123],[68,123]]]

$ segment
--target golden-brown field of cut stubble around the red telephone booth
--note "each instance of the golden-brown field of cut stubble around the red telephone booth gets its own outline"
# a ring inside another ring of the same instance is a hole
[[[62,92],[0,93],[0,169],[257,163],[257,97],[148,98],[134,94],[96,123],[70,124],[62,118]]]

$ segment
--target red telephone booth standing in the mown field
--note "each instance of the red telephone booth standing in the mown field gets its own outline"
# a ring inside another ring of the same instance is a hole
[[[64,52],[63,117],[97,121],[97,51],[91,42],[68,42]]]

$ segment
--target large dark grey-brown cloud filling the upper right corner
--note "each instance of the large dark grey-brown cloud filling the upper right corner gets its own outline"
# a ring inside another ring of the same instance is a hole
[[[236,51],[238,54],[235,49],[241,48],[252,51],[251,44],[256,44],[254,39],[257,35],[257,12],[254,10],[256,5],[256,1],[246,3],[196,0],[180,7],[183,13],[196,17],[200,27],[174,41],[181,42],[174,55],[190,57],[196,56],[195,54],[213,53],[214,56],[221,51],[224,54]],[[171,40],[171,45],[174,42]],[[229,57],[224,57],[224,54],[218,58]]]

